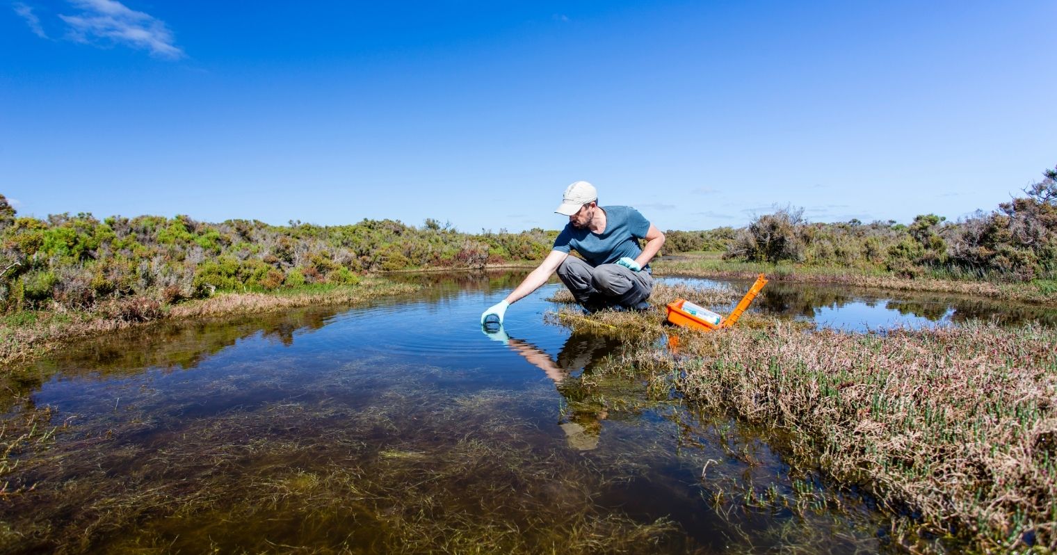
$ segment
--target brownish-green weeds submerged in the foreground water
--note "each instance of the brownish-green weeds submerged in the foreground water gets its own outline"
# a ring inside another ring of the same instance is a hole
[[[512,393],[451,397],[431,386],[437,369],[377,363],[208,418],[159,421],[164,400],[130,393],[20,469],[37,487],[0,499],[0,552],[647,553],[672,540],[667,519],[595,503],[634,468],[540,449],[537,425],[503,410]],[[286,364],[263,369],[273,387],[294,389]],[[331,396],[374,387],[365,404]],[[145,427],[160,433],[143,441]]]

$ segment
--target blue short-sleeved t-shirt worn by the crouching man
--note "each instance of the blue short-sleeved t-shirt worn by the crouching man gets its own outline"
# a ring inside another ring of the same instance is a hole
[[[569,253],[575,249],[592,266],[612,264],[623,257],[635,258],[643,249],[639,239],[646,238],[650,222],[631,206],[600,206],[606,211],[606,230],[600,234],[591,229],[565,228],[554,240],[554,249]],[[649,264],[647,264],[649,266]]]

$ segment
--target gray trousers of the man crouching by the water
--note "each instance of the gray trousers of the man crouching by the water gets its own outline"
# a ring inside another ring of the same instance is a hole
[[[558,278],[576,302],[589,308],[633,307],[648,299],[653,291],[653,276],[645,270],[632,272],[619,264],[592,267],[572,256],[558,266]]]

